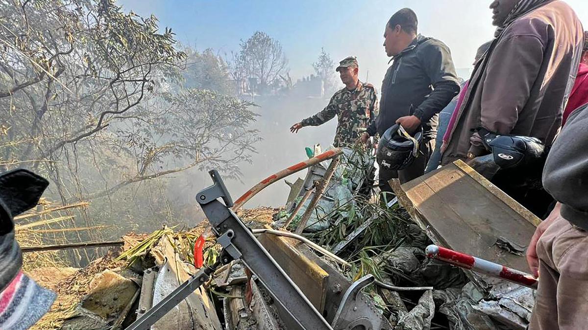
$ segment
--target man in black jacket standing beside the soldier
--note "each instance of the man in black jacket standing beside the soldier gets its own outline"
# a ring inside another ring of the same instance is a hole
[[[419,156],[406,169],[386,170],[380,167],[380,190],[391,192],[388,181],[399,178],[405,183],[422,176],[429,156],[435,149],[437,113],[459,93],[459,82],[449,48],[433,38],[417,34],[417,18],[409,8],[392,15],[384,32],[386,55],[394,61],[382,82],[380,113],[362,141],[395,123],[409,133],[423,129]],[[378,161],[379,163],[379,161]]]

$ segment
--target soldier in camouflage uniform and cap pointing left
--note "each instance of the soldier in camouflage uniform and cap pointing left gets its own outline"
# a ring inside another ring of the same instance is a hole
[[[338,125],[335,133],[335,147],[352,147],[376,119],[379,103],[374,86],[362,83],[358,78],[358,60],[349,56],[339,62],[336,71],[345,84],[331,97],[329,105],[314,116],[293,124],[290,132],[298,133],[305,126],[319,126],[337,116]]]

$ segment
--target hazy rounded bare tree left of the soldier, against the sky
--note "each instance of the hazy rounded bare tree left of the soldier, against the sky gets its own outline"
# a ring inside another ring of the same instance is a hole
[[[256,78],[263,92],[288,72],[288,59],[279,41],[257,31],[232,54],[230,72],[233,79]]]

